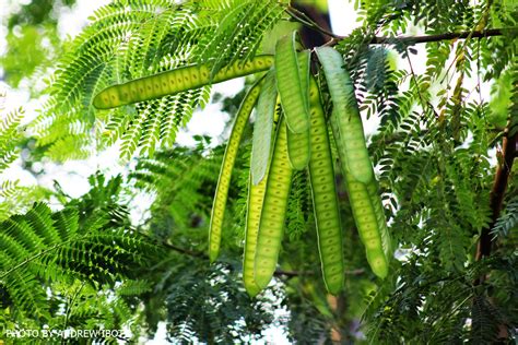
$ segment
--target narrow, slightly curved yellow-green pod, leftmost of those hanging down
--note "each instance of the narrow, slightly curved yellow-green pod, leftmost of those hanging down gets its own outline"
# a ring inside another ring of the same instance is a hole
[[[209,227],[209,259],[211,262],[213,262],[220,254],[221,233],[232,170],[234,169],[234,163],[236,162],[237,150],[239,147],[239,142],[242,141],[245,126],[250,117],[254,106],[256,105],[257,98],[259,97],[261,85],[262,80],[257,82],[245,96],[245,99],[237,111],[231,138],[228,139],[225,154],[223,155],[220,178],[217,179],[216,192],[212,205],[211,224]]]

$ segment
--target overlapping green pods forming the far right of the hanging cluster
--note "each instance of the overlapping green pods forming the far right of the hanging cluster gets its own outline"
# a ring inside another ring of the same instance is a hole
[[[385,278],[388,274],[390,237],[368,157],[362,119],[354,96],[354,86],[342,68],[342,56],[334,49],[321,47],[317,56],[331,94],[331,123],[342,171],[360,238],[365,246],[373,272]]]

